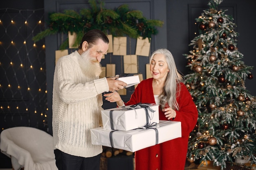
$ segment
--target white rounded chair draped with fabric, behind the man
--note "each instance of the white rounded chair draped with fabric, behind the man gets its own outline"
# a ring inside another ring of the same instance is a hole
[[[0,150],[11,158],[13,170],[58,170],[53,137],[31,127],[8,128],[0,134]]]

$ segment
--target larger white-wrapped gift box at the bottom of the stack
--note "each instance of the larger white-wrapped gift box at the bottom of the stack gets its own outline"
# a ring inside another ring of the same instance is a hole
[[[158,135],[153,128],[157,129]],[[111,133],[112,137],[110,137]],[[103,129],[103,127],[91,129],[93,145],[108,146],[130,152],[135,152],[178,137],[181,137],[180,121],[160,120],[157,126],[128,131]],[[156,143],[157,140],[158,142]]]

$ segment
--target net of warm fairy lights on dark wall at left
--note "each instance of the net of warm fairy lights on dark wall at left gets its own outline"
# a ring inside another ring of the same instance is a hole
[[[0,9],[0,128],[47,130],[44,9]]]

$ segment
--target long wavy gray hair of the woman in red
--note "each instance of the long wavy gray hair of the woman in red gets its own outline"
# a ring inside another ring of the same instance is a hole
[[[166,82],[164,85],[164,89],[162,93],[159,95],[160,99],[160,106],[162,108],[165,107],[166,103],[176,110],[179,110],[180,107],[176,100],[176,95],[180,94],[180,82],[183,81],[183,76],[177,71],[175,61],[171,52],[167,49],[158,49],[153,52],[150,57],[150,63],[155,54],[163,54],[165,56],[168,69],[168,75],[166,77]]]

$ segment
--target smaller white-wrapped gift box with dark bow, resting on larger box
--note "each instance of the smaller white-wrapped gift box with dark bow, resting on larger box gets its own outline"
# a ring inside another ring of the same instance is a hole
[[[159,110],[157,105],[149,105],[148,122],[159,123]],[[111,110],[112,113],[111,113]],[[136,111],[135,111],[136,110]],[[151,112],[150,110],[154,110]],[[112,114],[112,116],[111,116]],[[147,124],[147,115],[144,108],[130,108],[130,106],[101,110],[103,129],[132,130]],[[112,126],[112,127],[111,127]]]

